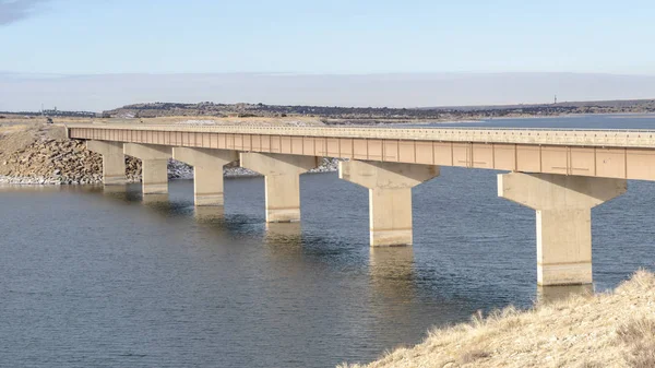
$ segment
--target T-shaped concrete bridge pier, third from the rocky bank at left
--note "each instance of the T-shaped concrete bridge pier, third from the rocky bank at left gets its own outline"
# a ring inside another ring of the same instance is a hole
[[[236,151],[174,147],[172,158],[193,166],[195,205],[223,205],[223,166],[239,159]]]

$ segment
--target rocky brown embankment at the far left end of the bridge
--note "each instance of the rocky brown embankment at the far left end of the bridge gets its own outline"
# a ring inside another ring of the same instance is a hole
[[[2,141],[0,141],[0,145]],[[0,183],[9,185],[95,185],[103,182],[103,157],[86,150],[83,141],[36,138],[34,142],[0,158]],[[311,173],[334,171],[336,159],[324,158]],[[226,177],[259,176],[249,169],[226,167]],[[128,181],[141,181],[141,162],[126,156]],[[192,179],[193,168],[174,159],[168,162],[170,179]]]

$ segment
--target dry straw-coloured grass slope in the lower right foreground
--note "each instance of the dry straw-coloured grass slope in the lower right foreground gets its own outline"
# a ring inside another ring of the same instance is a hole
[[[476,314],[415,347],[341,367],[655,367],[655,275],[639,271],[614,293]]]

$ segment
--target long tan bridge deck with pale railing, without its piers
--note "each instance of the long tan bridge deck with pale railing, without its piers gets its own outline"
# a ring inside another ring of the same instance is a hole
[[[655,180],[655,131],[76,124],[73,139]]]

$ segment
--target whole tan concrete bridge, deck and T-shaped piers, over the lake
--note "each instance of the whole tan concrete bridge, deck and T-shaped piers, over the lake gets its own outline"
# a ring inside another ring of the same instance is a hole
[[[143,163],[143,193],[168,191],[167,161],[194,167],[196,205],[223,205],[223,167],[265,177],[266,222],[300,219],[299,175],[338,157],[340,178],[369,189],[370,245],[412,245],[412,188],[439,166],[511,171],[498,195],[536,211],[539,285],[592,283],[592,207],[655,180],[655,131],[80,124],[103,155],[106,186]],[[491,214],[490,214],[491,215]]]

